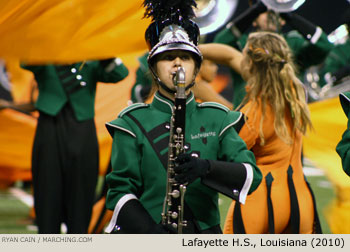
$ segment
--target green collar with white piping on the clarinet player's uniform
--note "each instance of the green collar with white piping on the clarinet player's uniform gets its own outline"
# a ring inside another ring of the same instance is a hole
[[[172,113],[174,102],[165,96],[163,96],[161,93],[156,92],[154,95],[152,106],[156,109],[163,111],[165,113]],[[187,97],[186,102],[186,113],[191,113],[196,108],[196,101],[194,99],[194,95],[191,92]]]

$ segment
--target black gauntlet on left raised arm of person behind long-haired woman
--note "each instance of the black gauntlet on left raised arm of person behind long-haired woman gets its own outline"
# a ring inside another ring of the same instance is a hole
[[[263,12],[267,11],[267,7],[260,0],[236,17],[232,24],[241,32],[245,32],[253,21]]]

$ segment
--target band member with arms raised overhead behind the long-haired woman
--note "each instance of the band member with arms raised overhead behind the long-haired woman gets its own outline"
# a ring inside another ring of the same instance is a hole
[[[220,31],[215,36],[214,42],[242,51],[249,35],[248,28],[251,25],[256,31],[280,32],[281,27],[286,23],[294,30],[284,33],[283,36],[293,52],[302,80],[308,67],[323,62],[332,49],[332,44],[320,27],[305,18],[295,13],[281,13],[280,17],[282,19],[279,19],[274,12],[267,11],[264,3],[258,0]],[[246,94],[246,83],[236,72],[231,70],[230,73],[233,82],[233,104],[234,108],[237,108]]]

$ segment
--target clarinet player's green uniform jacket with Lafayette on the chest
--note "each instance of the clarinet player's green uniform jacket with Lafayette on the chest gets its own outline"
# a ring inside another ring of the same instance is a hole
[[[113,171],[107,175],[110,189],[106,206],[114,210],[114,224],[123,204],[132,198],[141,202],[156,223],[161,220],[172,107],[170,100],[156,93],[151,105],[133,104],[116,120],[107,123],[113,136]],[[151,143],[132,118],[148,132]],[[196,152],[203,159],[250,164],[245,185],[232,188],[236,189],[237,200],[244,202],[248,191],[252,192],[259,185],[261,173],[255,165],[254,154],[247,150],[233,128],[242,122],[241,119],[240,112],[229,111],[220,104],[196,103],[193,94],[187,100],[185,138],[190,146],[188,152]],[[203,185],[200,179],[187,187],[185,201],[202,229],[220,224],[218,193]]]

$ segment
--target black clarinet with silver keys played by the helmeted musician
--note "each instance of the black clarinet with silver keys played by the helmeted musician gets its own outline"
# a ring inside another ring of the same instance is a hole
[[[182,234],[182,229],[187,225],[184,220],[184,200],[186,185],[175,181],[175,159],[185,152],[185,119],[186,119],[186,93],[185,93],[185,69],[179,67],[174,74],[176,88],[175,105],[170,119],[170,138],[168,148],[167,186],[163,204],[162,224],[171,225]]]

